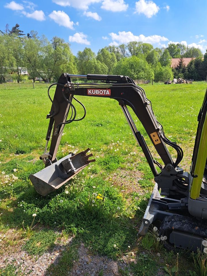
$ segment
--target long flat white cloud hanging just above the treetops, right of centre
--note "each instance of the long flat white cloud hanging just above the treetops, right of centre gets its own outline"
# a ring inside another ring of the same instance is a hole
[[[159,43],[160,41],[168,41],[166,37],[161,37],[160,35],[156,35],[156,34],[145,37],[143,34],[134,35],[132,32],[123,31],[123,32],[118,32],[118,34],[111,32],[109,35],[112,38],[112,41],[119,44],[128,43],[130,41],[142,41],[142,42],[152,43],[152,44]]]

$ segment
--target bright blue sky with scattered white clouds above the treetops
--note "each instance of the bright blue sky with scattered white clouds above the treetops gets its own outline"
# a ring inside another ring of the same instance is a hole
[[[1,30],[18,23],[24,33],[62,37],[75,55],[129,41],[207,48],[206,0],[0,0],[0,11]]]

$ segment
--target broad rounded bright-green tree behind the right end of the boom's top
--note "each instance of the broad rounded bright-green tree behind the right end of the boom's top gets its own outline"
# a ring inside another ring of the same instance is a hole
[[[124,75],[134,80],[152,80],[154,72],[146,60],[131,56],[120,60],[114,68],[114,74]]]

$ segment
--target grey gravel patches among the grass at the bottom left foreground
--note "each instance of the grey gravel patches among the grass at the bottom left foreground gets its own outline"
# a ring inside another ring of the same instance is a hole
[[[41,256],[30,256],[21,247],[15,251],[5,250],[5,253],[0,256],[0,268],[6,267],[8,264],[14,264],[25,275],[28,276],[50,276],[48,268],[51,264],[57,264],[62,256],[62,252],[66,246],[70,246],[72,238],[68,239],[64,244],[57,244],[51,251],[45,252]],[[84,244],[80,244],[78,248],[78,259],[74,261],[72,271],[68,271],[69,276],[118,276],[119,269],[128,267],[129,256],[124,256],[123,259],[115,262],[106,256],[98,254],[91,255]],[[100,274],[99,274],[100,273]],[[52,275],[56,276],[56,275]],[[63,275],[64,276],[64,275]]]

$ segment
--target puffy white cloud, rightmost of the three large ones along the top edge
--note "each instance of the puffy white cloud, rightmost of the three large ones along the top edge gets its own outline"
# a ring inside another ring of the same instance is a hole
[[[144,14],[146,17],[150,18],[159,11],[159,7],[153,1],[139,0],[135,3],[136,11],[135,13]]]

